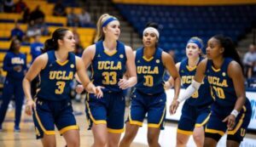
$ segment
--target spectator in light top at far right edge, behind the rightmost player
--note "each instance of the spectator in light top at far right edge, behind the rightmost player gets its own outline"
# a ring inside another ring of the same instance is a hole
[[[245,65],[245,73],[247,78],[252,77],[256,64],[256,52],[253,44],[250,44],[248,52],[244,55],[243,64]]]

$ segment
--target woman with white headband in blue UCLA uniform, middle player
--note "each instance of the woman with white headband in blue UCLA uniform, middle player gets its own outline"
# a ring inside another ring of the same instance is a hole
[[[143,31],[143,48],[136,52],[137,85],[131,96],[131,110],[125,124],[125,137],[120,147],[130,146],[148,113],[148,146],[160,146],[160,129],[166,120],[166,93],[163,79],[169,71],[174,81],[174,99],[180,89],[180,77],[170,54],[158,48],[160,33],[157,24],[149,23]]]

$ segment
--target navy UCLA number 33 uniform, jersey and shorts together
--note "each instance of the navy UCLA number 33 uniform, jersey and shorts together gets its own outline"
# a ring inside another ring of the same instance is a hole
[[[119,88],[119,79],[126,71],[125,45],[117,42],[116,52],[109,54],[104,50],[103,42],[96,42],[96,54],[91,63],[92,79],[95,86],[103,86],[103,98],[97,99],[89,94],[86,101],[86,114],[95,124],[106,124],[109,133],[124,132],[125,98]]]

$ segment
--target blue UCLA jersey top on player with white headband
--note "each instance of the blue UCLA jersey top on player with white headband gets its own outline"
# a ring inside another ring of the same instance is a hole
[[[146,94],[163,93],[165,92],[163,76],[166,71],[162,63],[163,51],[161,48],[156,48],[154,56],[151,59],[146,59],[143,56],[143,50],[143,48],[139,48],[136,52],[136,88]]]

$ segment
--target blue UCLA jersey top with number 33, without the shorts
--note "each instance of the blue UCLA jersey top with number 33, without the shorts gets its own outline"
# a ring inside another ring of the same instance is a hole
[[[125,44],[117,41],[116,52],[108,54],[103,42],[96,42],[96,53],[91,63],[92,81],[96,86],[105,87],[102,91],[121,92],[119,79],[122,79],[126,68]]]

